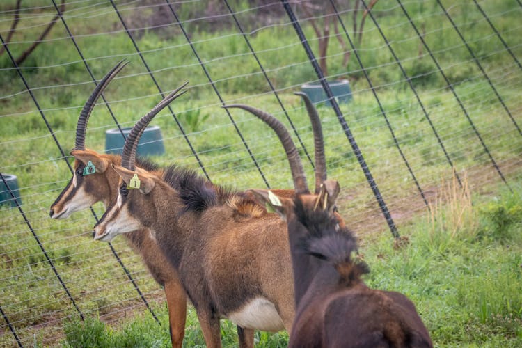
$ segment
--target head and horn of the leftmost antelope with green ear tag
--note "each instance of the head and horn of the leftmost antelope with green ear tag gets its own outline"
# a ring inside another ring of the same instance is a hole
[[[100,81],[81,109],[76,127],[76,141],[71,155],[74,156],[74,172],[65,189],[51,205],[49,216],[53,219],[65,219],[73,212],[90,207],[102,201],[105,205],[111,199],[111,181],[115,175],[107,169],[111,163],[110,155],[100,155],[85,148],[85,135],[90,113],[111,80],[120,72],[126,62],[120,61]],[[107,175],[109,174],[109,175]]]

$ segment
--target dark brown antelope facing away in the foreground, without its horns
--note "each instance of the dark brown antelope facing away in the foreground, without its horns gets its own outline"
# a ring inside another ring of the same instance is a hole
[[[292,175],[303,172],[292,166]],[[253,191],[287,221],[296,303],[288,346],[432,347],[406,296],[370,289],[361,279],[369,269],[354,259],[356,240],[332,214],[338,182],[326,180],[313,195],[305,182],[294,183],[293,199]]]

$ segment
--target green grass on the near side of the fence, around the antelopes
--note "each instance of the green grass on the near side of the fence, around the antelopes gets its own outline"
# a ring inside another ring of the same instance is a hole
[[[459,189],[449,184],[450,189]],[[399,291],[416,304],[436,347],[519,347],[522,344],[522,199],[516,193],[475,197],[470,205],[462,191],[432,214],[418,216],[402,229],[409,245],[394,248],[387,232],[361,246],[370,265],[370,287]],[[468,192],[469,193],[469,192]],[[459,216],[475,221],[473,230]],[[150,315],[116,326],[99,319],[65,325],[64,347],[167,347],[163,327]],[[349,317],[349,314],[347,314]],[[235,326],[221,321],[223,345],[237,346]],[[257,347],[285,347],[286,333],[256,333]],[[204,347],[203,335],[189,310],[186,347]]]

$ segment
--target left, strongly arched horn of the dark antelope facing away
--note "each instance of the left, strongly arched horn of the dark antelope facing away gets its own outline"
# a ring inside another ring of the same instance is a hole
[[[294,179],[294,188],[296,193],[309,193],[308,184],[306,183],[306,175],[303,170],[303,164],[301,164],[301,158],[299,157],[299,153],[295,147],[294,141],[290,137],[287,129],[277,118],[271,116],[269,113],[261,111],[259,109],[255,109],[252,106],[244,105],[244,104],[231,104],[225,105],[223,108],[239,108],[244,109],[250,113],[253,113],[254,116],[263,120],[267,125],[274,129],[274,132],[279,137],[281,143],[283,143],[283,148],[285,148],[285,152],[287,155],[288,162],[290,163],[290,170],[292,171],[292,178]]]

